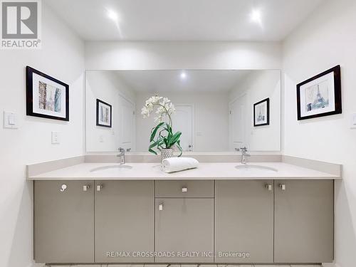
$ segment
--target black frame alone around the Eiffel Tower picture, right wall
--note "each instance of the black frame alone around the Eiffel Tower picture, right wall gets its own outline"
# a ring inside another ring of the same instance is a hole
[[[313,80],[321,78],[325,75],[328,75],[329,73],[334,73],[334,75],[333,75],[334,88],[333,89],[334,89],[335,110],[330,111],[330,112],[320,112],[320,113],[314,114],[314,115],[302,116],[301,115],[301,106],[300,106],[300,104],[301,104],[301,100],[300,100],[301,86],[308,84],[308,83],[312,82]],[[312,119],[315,117],[325,117],[325,116],[342,113],[341,68],[340,68],[340,65],[330,68],[329,70],[325,70],[323,73],[315,75],[312,78],[309,78],[308,80],[303,81],[302,83],[298,83],[298,85],[297,85],[297,113],[298,113],[298,120],[308,120],[308,119]]]

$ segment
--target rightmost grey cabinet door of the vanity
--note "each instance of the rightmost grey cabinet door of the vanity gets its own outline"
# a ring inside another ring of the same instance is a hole
[[[333,196],[331,180],[275,182],[276,263],[333,261]]]

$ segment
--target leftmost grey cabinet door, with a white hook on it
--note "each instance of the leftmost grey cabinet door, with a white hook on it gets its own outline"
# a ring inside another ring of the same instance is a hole
[[[94,262],[93,184],[93,181],[34,182],[36,262]],[[86,191],[85,185],[90,186]]]

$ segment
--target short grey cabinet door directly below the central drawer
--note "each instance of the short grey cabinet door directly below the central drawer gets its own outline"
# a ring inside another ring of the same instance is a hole
[[[156,262],[214,261],[214,199],[156,199],[155,212]]]

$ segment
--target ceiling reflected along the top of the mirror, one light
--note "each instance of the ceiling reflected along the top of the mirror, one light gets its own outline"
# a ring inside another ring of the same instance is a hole
[[[251,71],[253,70],[116,70],[115,73],[136,92],[214,93],[228,92]],[[182,78],[182,73],[185,78]]]

